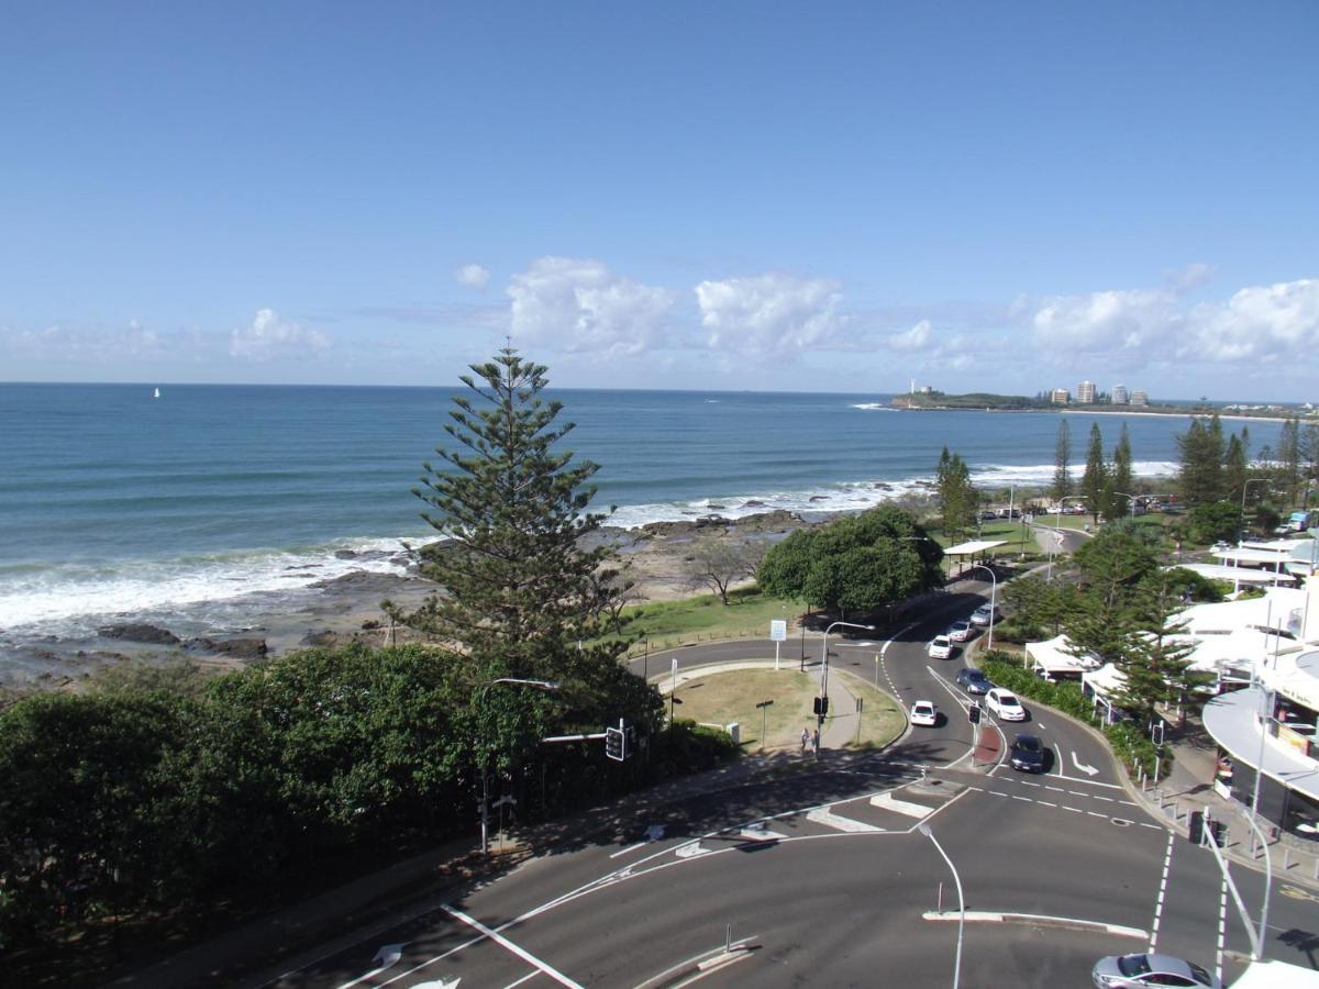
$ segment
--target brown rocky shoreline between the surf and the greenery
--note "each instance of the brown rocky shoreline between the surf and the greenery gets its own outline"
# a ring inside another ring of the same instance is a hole
[[[715,508],[715,506],[711,506]],[[723,508],[723,506],[720,506]],[[753,502],[741,509],[757,508]],[[590,537],[591,545],[611,545],[634,582],[636,603],[675,600],[699,593],[685,572],[687,549],[698,538],[780,539],[794,529],[818,525],[798,514],[773,510],[727,518],[716,512],[691,520],[653,522],[638,529],[605,526]],[[372,551],[377,553],[379,551]],[[346,555],[347,554],[347,555]],[[367,558],[350,550],[340,559]],[[371,556],[376,559],[376,556]],[[390,638],[405,642],[405,629],[390,629],[380,609],[383,600],[415,608],[435,584],[417,575],[410,554],[397,554],[398,572],[357,570],[317,582],[298,607],[255,603],[239,609],[241,622],[227,628],[186,632],[189,622],[140,616],[112,616],[95,634],[79,640],[45,638],[8,650],[0,666],[0,687],[17,691],[77,690],[99,671],[128,663],[169,665],[187,661],[211,669],[236,669],[293,649],[336,646],[355,641],[372,646]],[[0,630],[3,632],[3,630]]]

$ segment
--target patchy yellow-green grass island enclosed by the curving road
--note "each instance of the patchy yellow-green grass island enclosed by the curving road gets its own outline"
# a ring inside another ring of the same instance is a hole
[[[835,671],[835,675],[839,675]],[[902,734],[906,715],[897,703],[874,687],[855,678],[844,678],[847,690],[861,699],[860,746],[878,748]],[[674,717],[706,724],[741,725],[741,745],[747,752],[790,749],[801,746],[802,728],[815,727],[811,699],[819,692],[818,674],[783,670],[733,670],[698,676],[679,684]],[[761,738],[762,700],[774,703],[765,708],[765,736]],[[844,719],[851,725],[855,740],[857,715],[855,709],[831,711],[828,721]],[[856,744],[856,742],[853,742]]]

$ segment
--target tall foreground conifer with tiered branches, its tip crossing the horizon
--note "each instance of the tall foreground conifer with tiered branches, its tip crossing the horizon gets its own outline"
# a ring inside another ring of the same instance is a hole
[[[598,465],[558,451],[572,423],[541,398],[546,368],[505,348],[472,372],[445,426],[454,444],[435,451],[446,467],[425,464],[414,489],[422,517],[450,541],[422,564],[443,592],[412,613],[385,608],[485,670],[563,679],[583,663],[613,662],[628,641],[601,638],[612,624],[601,597],[627,585],[601,579],[612,549],[582,542],[605,518],[587,510]]]

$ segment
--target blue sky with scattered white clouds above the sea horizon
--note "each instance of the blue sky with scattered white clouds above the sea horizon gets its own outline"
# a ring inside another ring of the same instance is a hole
[[[1319,5],[44,4],[0,380],[1319,401]]]

